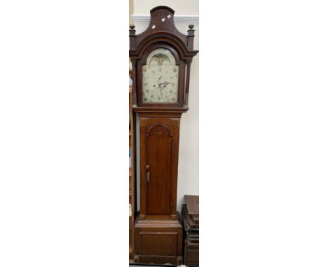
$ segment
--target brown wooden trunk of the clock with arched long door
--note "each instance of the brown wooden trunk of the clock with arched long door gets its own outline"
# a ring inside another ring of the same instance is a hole
[[[139,118],[140,216],[176,217],[179,117]]]

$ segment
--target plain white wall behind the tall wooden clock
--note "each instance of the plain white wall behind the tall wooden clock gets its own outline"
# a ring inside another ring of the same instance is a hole
[[[135,0],[134,14],[149,15],[149,10],[156,6],[169,6],[175,10],[175,16],[198,15],[197,1],[160,1],[160,0]],[[137,34],[148,27],[149,22],[134,21]],[[187,34],[189,24],[195,25],[194,49],[198,50],[198,22],[176,22],[177,29]],[[189,89],[189,111],[182,115],[179,147],[179,174],[177,208],[180,211],[184,195],[198,195],[199,165],[198,165],[198,127],[199,127],[199,88],[198,88],[198,55],[191,64],[191,80]],[[139,206],[139,205],[138,205]]]

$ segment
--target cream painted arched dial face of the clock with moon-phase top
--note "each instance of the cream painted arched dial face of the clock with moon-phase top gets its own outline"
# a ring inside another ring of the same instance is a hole
[[[157,48],[142,66],[142,101],[177,103],[179,66],[170,50]]]

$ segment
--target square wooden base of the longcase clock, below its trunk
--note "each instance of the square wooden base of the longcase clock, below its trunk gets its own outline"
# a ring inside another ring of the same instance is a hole
[[[135,262],[182,264],[183,227],[177,219],[140,219],[135,222]]]

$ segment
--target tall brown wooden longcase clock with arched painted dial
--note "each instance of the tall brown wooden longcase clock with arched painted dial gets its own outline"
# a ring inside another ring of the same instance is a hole
[[[149,27],[130,26],[133,110],[139,117],[140,210],[135,261],[182,264],[182,223],[177,212],[180,118],[188,108],[194,29],[177,30],[175,11],[151,10]]]

